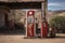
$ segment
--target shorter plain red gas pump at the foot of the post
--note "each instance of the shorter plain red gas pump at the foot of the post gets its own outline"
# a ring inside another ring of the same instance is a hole
[[[41,38],[48,37],[48,23],[42,22],[41,23]]]

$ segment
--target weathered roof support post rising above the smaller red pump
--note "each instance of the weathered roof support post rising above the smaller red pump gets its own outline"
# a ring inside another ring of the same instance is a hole
[[[42,22],[46,22],[47,20],[47,14],[48,14],[48,1],[44,1],[41,3],[41,19]]]

